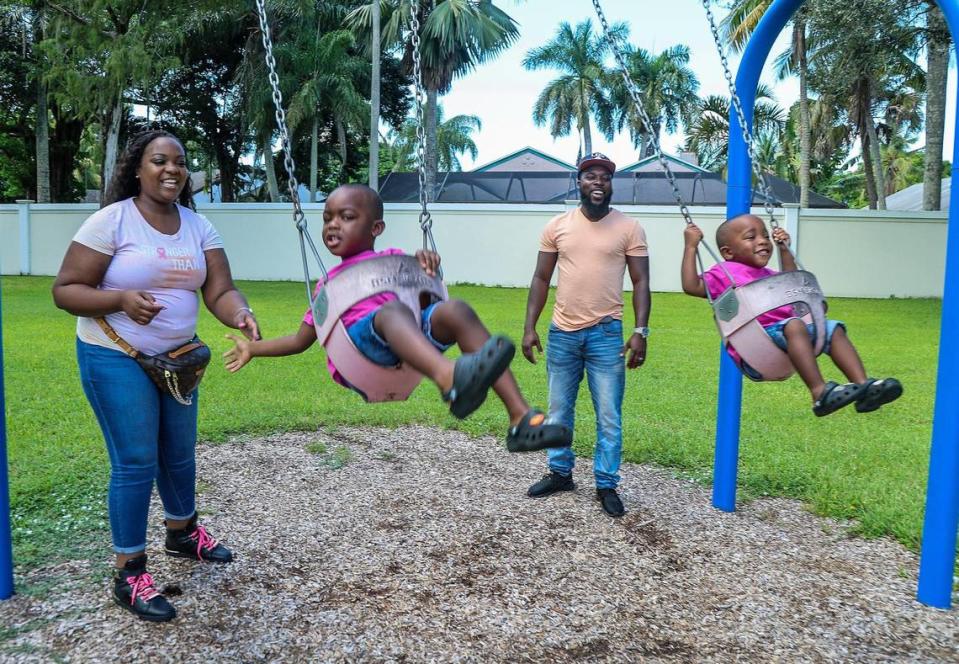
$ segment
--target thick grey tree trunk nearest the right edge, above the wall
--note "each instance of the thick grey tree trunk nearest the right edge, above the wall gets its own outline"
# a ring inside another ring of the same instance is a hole
[[[926,149],[922,209],[938,210],[942,200],[942,144],[946,127],[946,79],[949,71],[949,29],[934,0],[926,9]]]

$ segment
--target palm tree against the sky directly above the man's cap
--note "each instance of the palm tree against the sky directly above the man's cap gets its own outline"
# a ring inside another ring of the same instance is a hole
[[[629,28],[616,23],[611,32],[615,40],[623,40]],[[607,72],[603,60],[608,52],[609,43],[603,35],[593,34],[593,24],[587,19],[575,28],[560,23],[552,40],[523,58],[523,67],[530,71],[558,69],[561,73],[536,99],[533,122],[539,127],[548,124],[553,138],[568,136],[575,123],[585,154],[593,151],[590,116],[596,118],[601,132],[610,137],[614,133],[613,105],[604,86]]]

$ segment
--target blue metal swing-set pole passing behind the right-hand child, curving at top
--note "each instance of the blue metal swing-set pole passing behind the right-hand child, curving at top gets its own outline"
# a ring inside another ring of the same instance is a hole
[[[776,0],[766,10],[743,52],[736,74],[736,91],[743,104],[746,122],[752,125],[756,86],[773,43],[789,17],[804,0]],[[752,204],[752,172],[749,151],[743,141],[736,112],[729,114],[729,164],[726,189],[726,216],[749,212]],[[739,421],[742,411],[743,378],[736,364],[720,348],[719,403],[716,414],[716,452],[713,459],[713,506],[732,512],[736,509],[736,468],[739,461]]]

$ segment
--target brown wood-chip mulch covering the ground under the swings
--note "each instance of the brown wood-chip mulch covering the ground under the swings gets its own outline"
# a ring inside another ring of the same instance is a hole
[[[787,500],[727,514],[708,489],[624,464],[625,517],[591,467],[526,498],[544,455],[425,427],[203,445],[226,566],[151,571],[179,611],[114,605],[102,558],[22,574],[2,661],[959,661],[959,612],[915,599],[917,556]]]

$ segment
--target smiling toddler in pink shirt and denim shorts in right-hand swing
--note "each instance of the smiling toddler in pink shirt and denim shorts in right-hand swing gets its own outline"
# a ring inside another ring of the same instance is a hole
[[[775,270],[766,267],[772,257],[773,242],[779,249],[783,270],[792,272],[797,269],[796,259],[789,250],[789,234],[785,229],[775,228],[770,241],[762,219],[752,214],[734,217],[719,226],[716,244],[725,261],[702,275],[696,270],[696,247],[703,239],[703,232],[695,224],[690,224],[686,227],[684,237],[686,247],[681,276],[683,291],[689,295],[706,297],[708,288],[710,297],[716,299],[731,286],[726,272],[739,285],[776,274]],[[773,342],[789,355],[796,372],[809,388],[812,410],[816,416],[829,415],[851,403],[856,404],[856,411],[868,413],[902,395],[902,385],[895,378],[877,380],[866,376],[859,353],[846,336],[846,325],[841,321],[826,320],[823,352],[832,358],[850,381],[843,385],[823,379],[813,353],[813,341],[818,331],[796,317],[791,306],[768,311],[758,320]],[[727,350],[732,354],[732,349]],[[733,357],[736,359],[735,355]],[[751,370],[745,362],[742,363],[742,369],[744,373]]]

